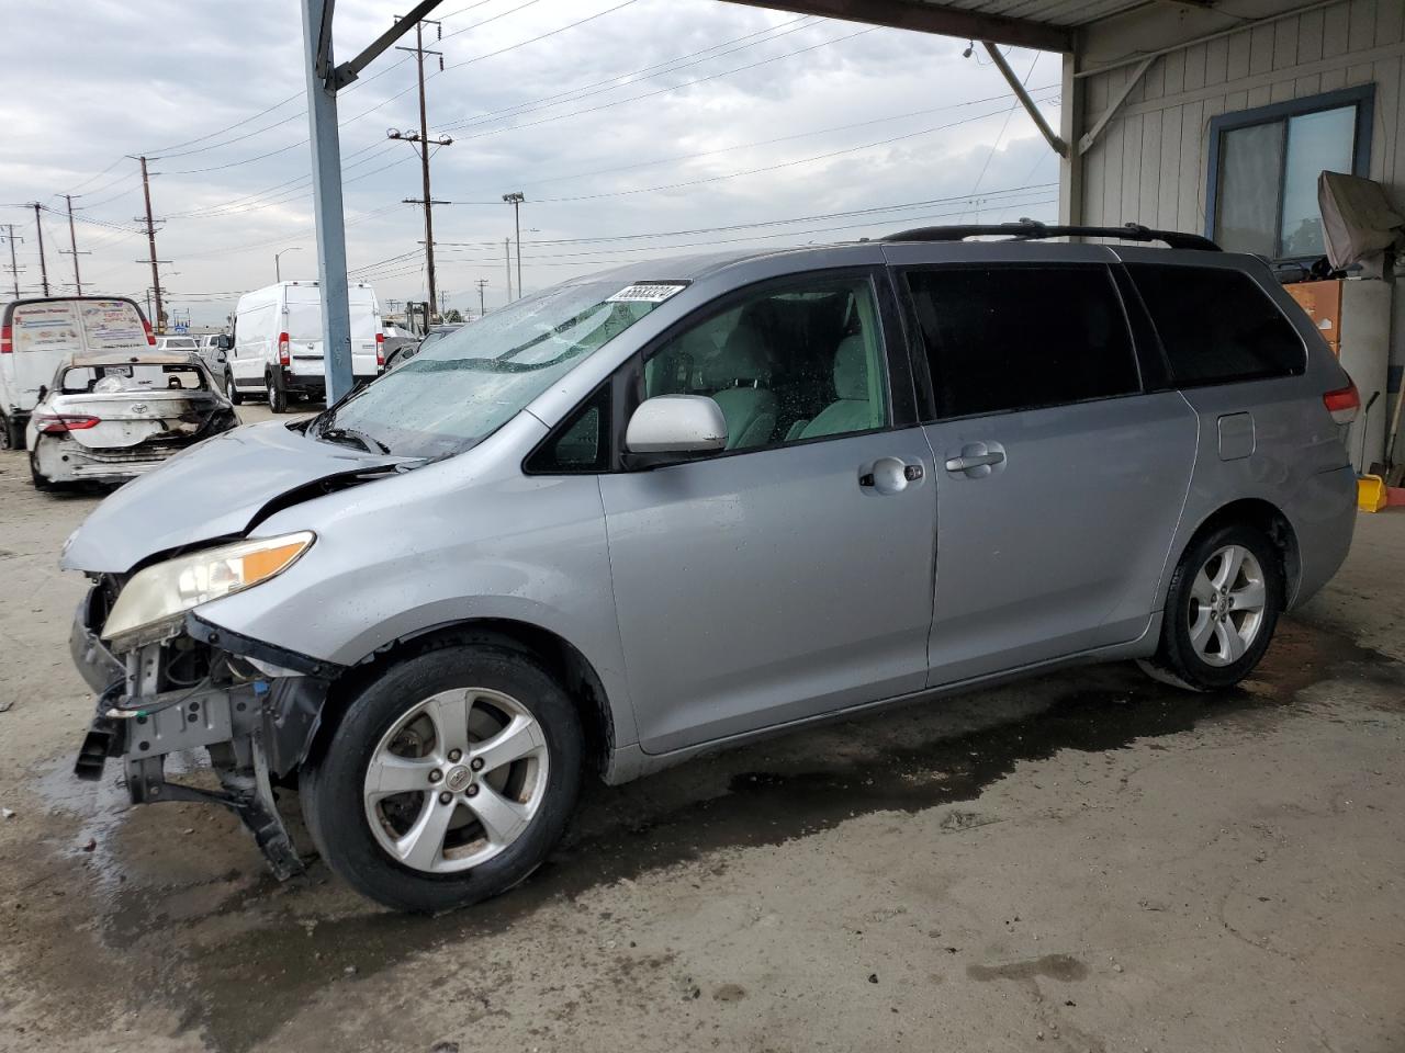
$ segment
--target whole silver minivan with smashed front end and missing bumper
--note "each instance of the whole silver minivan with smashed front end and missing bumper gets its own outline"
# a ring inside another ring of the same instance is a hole
[[[1356,410],[1267,267],[1189,234],[569,281],[98,507],[77,772],[235,809],[280,875],[295,786],[361,893],[471,903],[587,776],[1069,663],[1228,688],[1346,555]],[[222,790],[167,779],[197,747]]]

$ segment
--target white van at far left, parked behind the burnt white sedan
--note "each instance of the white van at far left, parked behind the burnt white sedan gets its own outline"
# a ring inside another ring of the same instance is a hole
[[[146,351],[152,327],[124,296],[35,296],[0,313],[0,449],[22,449],[39,389],[69,355]]]

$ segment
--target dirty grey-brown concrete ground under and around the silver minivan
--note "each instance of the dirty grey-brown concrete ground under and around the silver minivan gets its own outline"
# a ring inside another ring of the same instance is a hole
[[[0,455],[3,1050],[1405,1050],[1405,514],[1241,689],[1075,670],[593,788],[427,920],[70,778],[97,500]]]

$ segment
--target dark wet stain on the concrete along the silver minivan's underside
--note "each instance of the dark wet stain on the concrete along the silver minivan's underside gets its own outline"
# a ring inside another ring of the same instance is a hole
[[[320,863],[306,878],[278,885],[257,869],[257,856],[240,842],[242,854],[233,855],[240,866],[204,879],[212,886],[204,913],[198,897],[188,910],[173,910],[173,899],[188,899],[198,882],[140,889],[126,883],[100,896],[105,899],[104,942],[118,951],[124,943],[159,943],[162,967],[152,977],[150,994],[219,1050],[244,1053],[329,988],[360,986],[416,955],[433,956],[450,943],[502,932],[548,903],[572,901],[592,889],[719,849],[778,845],[856,816],[910,814],[974,800],[1017,764],[1062,750],[1113,751],[1204,726],[1262,731],[1304,705],[1295,699],[1298,692],[1345,667],[1399,688],[1405,698],[1405,667],[1288,622],[1253,681],[1229,692],[1179,692],[1127,664],[1080,668],[829,724],[622,788],[587,786],[572,833],[534,878],[490,904],[458,914],[423,918],[378,911],[333,883]],[[1012,699],[1024,706],[1016,705],[1013,717],[979,715],[982,705]],[[948,710],[958,716],[948,719]],[[700,781],[711,788],[700,792]],[[162,809],[143,812],[152,820],[171,819]],[[295,804],[285,803],[285,812],[295,812]],[[953,820],[951,833],[991,821],[961,814],[967,819]],[[126,813],[114,820],[117,827],[125,821]],[[183,845],[171,834],[177,844],[164,851],[174,855]],[[305,835],[302,844],[308,844]],[[143,869],[157,863],[146,861]],[[197,927],[219,935],[211,941],[204,934],[192,945],[183,928]],[[976,979],[1079,979],[1075,973],[1086,970],[1064,959],[1052,955],[1033,963],[972,967],[991,970]],[[461,983],[465,997],[486,1005],[489,988],[472,977]],[[254,991],[256,998],[250,997]]]

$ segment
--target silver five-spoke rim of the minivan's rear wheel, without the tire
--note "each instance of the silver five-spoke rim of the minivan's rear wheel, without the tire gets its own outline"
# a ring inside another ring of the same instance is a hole
[[[1242,545],[1215,549],[1190,585],[1190,646],[1208,665],[1232,665],[1259,637],[1266,604],[1259,559]]]

